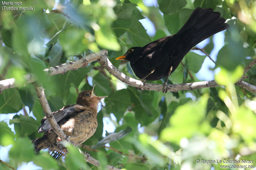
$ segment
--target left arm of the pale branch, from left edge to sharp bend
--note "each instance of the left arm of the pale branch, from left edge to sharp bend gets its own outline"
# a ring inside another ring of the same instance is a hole
[[[77,70],[80,67],[86,67],[89,63],[93,61],[97,61],[102,56],[107,56],[108,51],[107,50],[100,50],[97,53],[90,53],[86,55],[84,58],[81,58],[79,60],[71,61],[68,63],[61,64],[59,66],[50,67],[49,69],[44,69],[46,74],[48,76],[52,76],[55,74],[64,74],[69,70]],[[24,76],[26,83],[33,83],[36,81],[36,78],[33,74],[27,74]],[[9,88],[17,87],[18,85],[15,84],[15,79],[5,79],[0,81],[0,93]]]

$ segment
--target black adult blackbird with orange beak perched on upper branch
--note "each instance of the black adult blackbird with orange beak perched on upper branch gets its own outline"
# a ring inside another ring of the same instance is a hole
[[[174,35],[150,42],[144,47],[132,47],[116,60],[130,61],[140,80],[159,80],[168,77],[178,67],[184,55],[199,42],[229,27],[220,12],[196,8],[185,25]]]

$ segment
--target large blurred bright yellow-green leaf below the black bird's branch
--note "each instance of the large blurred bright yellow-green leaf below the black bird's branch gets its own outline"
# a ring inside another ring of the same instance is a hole
[[[208,95],[196,103],[188,102],[177,107],[170,119],[170,127],[162,130],[161,139],[179,144],[182,137],[191,137],[196,132],[209,133],[210,125],[204,121]],[[184,117],[186,119],[184,119]]]

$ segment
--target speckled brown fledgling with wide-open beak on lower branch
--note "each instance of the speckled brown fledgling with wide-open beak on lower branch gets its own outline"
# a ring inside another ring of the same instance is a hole
[[[95,85],[94,85],[95,86]],[[60,110],[52,112],[54,118],[58,122],[60,129],[68,136],[69,140],[75,145],[80,145],[91,137],[98,126],[97,108],[100,99],[108,97],[97,97],[92,90],[85,90],[78,94],[75,105],[64,106]],[[41,126],[38,133],[45,132],[44,136],[34,139],[33,145],[35,152],[41,149],[49,148],[52,152],[60,154],[67,153],[67,149],[60,143],[61,139],[52,130],[51,125],[46,117],[41,120]],[[54,155],[53,157],[57,157]]]

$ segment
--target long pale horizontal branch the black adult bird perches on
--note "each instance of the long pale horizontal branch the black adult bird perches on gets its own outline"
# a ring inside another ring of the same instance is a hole
[[[91,53],[76,61],[68,62],[61,64],[59,66],[50,67],[49,69],[44,69],[45,72],[48,73],[49,76],[55,74],[64,74],[68,70],[77,70],[80,67],[86,67],[88,63],[98,60],[98,62],[113,76],[117,79],[122,81],[123,83],[140,88],[142,90],[154,90],[154,91],[163,91],[164,86],[161,84],[151,84],[145,83],[136,80],[134,78],[130,78],[120,70],[118,70],[109,60],[108,60],[108,51],[107,50],[100,50],[98,53]],[[256,60],[256,59],[255,59]],[[245,71],[247,72],[248,69],[252,68],[252,66],[256,63],[256,61],[252,61],[245,67]],[[24,76],[27,83],[32,83],[35,81],[35,77],[32,74],[27,74]],[[17,85],[14,84],[15,79],[10,78],[6,80],[0,81],[0,92],[4,89],[16,87]],[[250,92],[256,92],[256,86],[246,83],[240,79],[236,85],[247,89]],[[180,90],[194,90],[199,88],[208,88],[208,87],[216,87],[219,86],[214,80],[212,81],[201,81],[201,82],[194,82],[194,83],[186,83],[186,84],[176,84],[176,85],[167,85],[169,92],[178,92]]]

